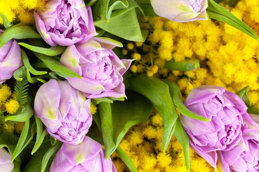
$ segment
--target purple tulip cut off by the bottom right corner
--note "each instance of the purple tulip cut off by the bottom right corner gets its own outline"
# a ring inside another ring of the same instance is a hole
[[[220,151],[223,172],[259,172],[259,125],[248,114],[244,142],[229,151]]]

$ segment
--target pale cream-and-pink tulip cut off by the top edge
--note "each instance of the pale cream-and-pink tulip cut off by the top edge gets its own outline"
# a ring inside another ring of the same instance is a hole
[[[151,0],[157,15],[175,22],[207,20],[207,0]]]

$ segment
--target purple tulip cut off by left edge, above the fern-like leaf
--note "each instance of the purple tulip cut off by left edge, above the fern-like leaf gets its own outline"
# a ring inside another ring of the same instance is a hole
[[[3,30],[0,30],[0,37]],[[21,49],[15,40],[0,47],[0,84],[13,76],[14,71],[23,65]]]

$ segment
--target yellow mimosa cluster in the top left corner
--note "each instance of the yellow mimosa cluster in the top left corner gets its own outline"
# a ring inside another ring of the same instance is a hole
[[[24,24],[34,23],[33,11],[43,9],[45,0],[0,0],[0,13],[3,13],[10,22]],[[0,24],[2,24],[0,18]]]

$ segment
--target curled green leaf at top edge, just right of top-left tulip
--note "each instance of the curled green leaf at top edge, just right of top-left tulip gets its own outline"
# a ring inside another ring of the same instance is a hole
[[[108,23],[113,10],[128,8],[127,0],[97,0],[94,6],[94,16],[99,16],[101,20]]]

